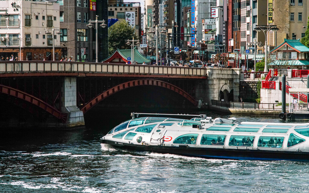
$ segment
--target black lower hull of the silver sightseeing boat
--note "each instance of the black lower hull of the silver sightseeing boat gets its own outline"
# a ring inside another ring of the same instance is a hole
[[[137,145],[100,139],[102,144],[110,144],[122,149],[134,151],[149,151],[155,153],[169,153],[188,157],[207,159],[235,159],[235,160],[267,160],[267,161],[297,161],[309,162],[309,153],[298,151],[273,151],[259,149],[226,149],[226,148],[196,148],[161,145]]]

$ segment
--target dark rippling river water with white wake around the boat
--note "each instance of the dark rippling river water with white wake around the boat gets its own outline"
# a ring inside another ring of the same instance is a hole
[[[210,111],[193,113],[231,117]],[[98,117],[93,115],[85,129],[73,131],[2,129],[0,192],[308,192],[309,163],[128,152],[101,146],[99,138],[129,119],[129,114],[114,112],[93,121]],[[282,122],[277,118],[244,118]]]

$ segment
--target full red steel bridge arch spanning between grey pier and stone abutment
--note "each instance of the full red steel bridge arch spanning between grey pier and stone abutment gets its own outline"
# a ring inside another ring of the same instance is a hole
[[[126,88],[130,88],[133,86],[143,86],[143,85],[161,86],[161,87],[173,90],[176,93],[182,95],[184,98],[188,99],[188,101],[193,103],[194,106],[197,105],[197,102],[190,94],[188,94],[187,92],[185,92],[184,90],[180,89],[177,86],[174,86],[168,82],[154,80],[154,79],[140,79],[140,80],[133,80],[133,81],[121,83],[117,86],[114,86],[113,88],[110,88],[104,91],[102,94],[99,94],[99,96],[95,97],[89,103],[87,103],[84,107],[82,107],[81,111],[83,111],[83,113],[85,114],[89,109],[91,109],[91,107],[95,106],[97,103],[107,98],[108,96],[115,94],[116,92],[124,90]]]

